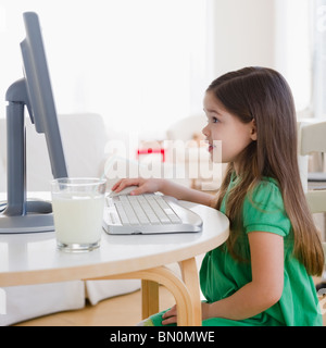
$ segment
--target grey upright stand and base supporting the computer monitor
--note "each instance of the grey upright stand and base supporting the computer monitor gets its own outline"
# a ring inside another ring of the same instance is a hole
[[[0,234],[54,231],[52,206],[26,199],[26,128],[24,107],[34,123],[24,78],[12,84],[7,105],[7,208],[0,213]]]

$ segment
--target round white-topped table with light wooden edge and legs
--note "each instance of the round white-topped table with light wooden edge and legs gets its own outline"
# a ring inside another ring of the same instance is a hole
[[[0,287],[73,279],[142,279],[142,316],[159,310],[158,284],[175,297],[178,325],[201,325],[195,257],[222,245],[228,219],[215,209],[180,202],[201,215],[199,233],[108,235],[99,249],[67,253],[57,249],[54,232],[0,235]],[[178,262],[181,276],[164,265]]]

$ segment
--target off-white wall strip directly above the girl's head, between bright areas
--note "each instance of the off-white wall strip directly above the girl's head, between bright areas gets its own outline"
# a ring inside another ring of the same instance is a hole
[[[275,67],[274,2],[212,0],[215,77],[249,65]]]

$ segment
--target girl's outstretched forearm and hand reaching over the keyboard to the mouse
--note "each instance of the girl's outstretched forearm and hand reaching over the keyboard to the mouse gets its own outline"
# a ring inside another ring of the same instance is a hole
[[[177,199],[187,200],[209,207],[212,207],[214,201],[213,195],[191,189],[163,178],[124,178],[117,182],[112,187],[112,190],[115,192],[120,192],[125,187],[133,185],[136,185],[138,187],[134,189],[130,195],[141,195],[160,191],[166,196],[173,196]]]

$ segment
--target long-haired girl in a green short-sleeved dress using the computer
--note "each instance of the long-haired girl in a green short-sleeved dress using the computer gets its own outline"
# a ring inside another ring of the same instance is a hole
[[[222,140],[228,163],[216,199],[165,179],[123,179],[120,191],[161,191],[212,206],[230,221],[230,235],[200,269],[203,325],[321,325],[311,275],[324,254],[301,187],[297,120],[289,86],[269,69],[247,67],[215,79],[204,97],[203,134],[214,159]],[[175,324],[177,308],[145,325]]]

